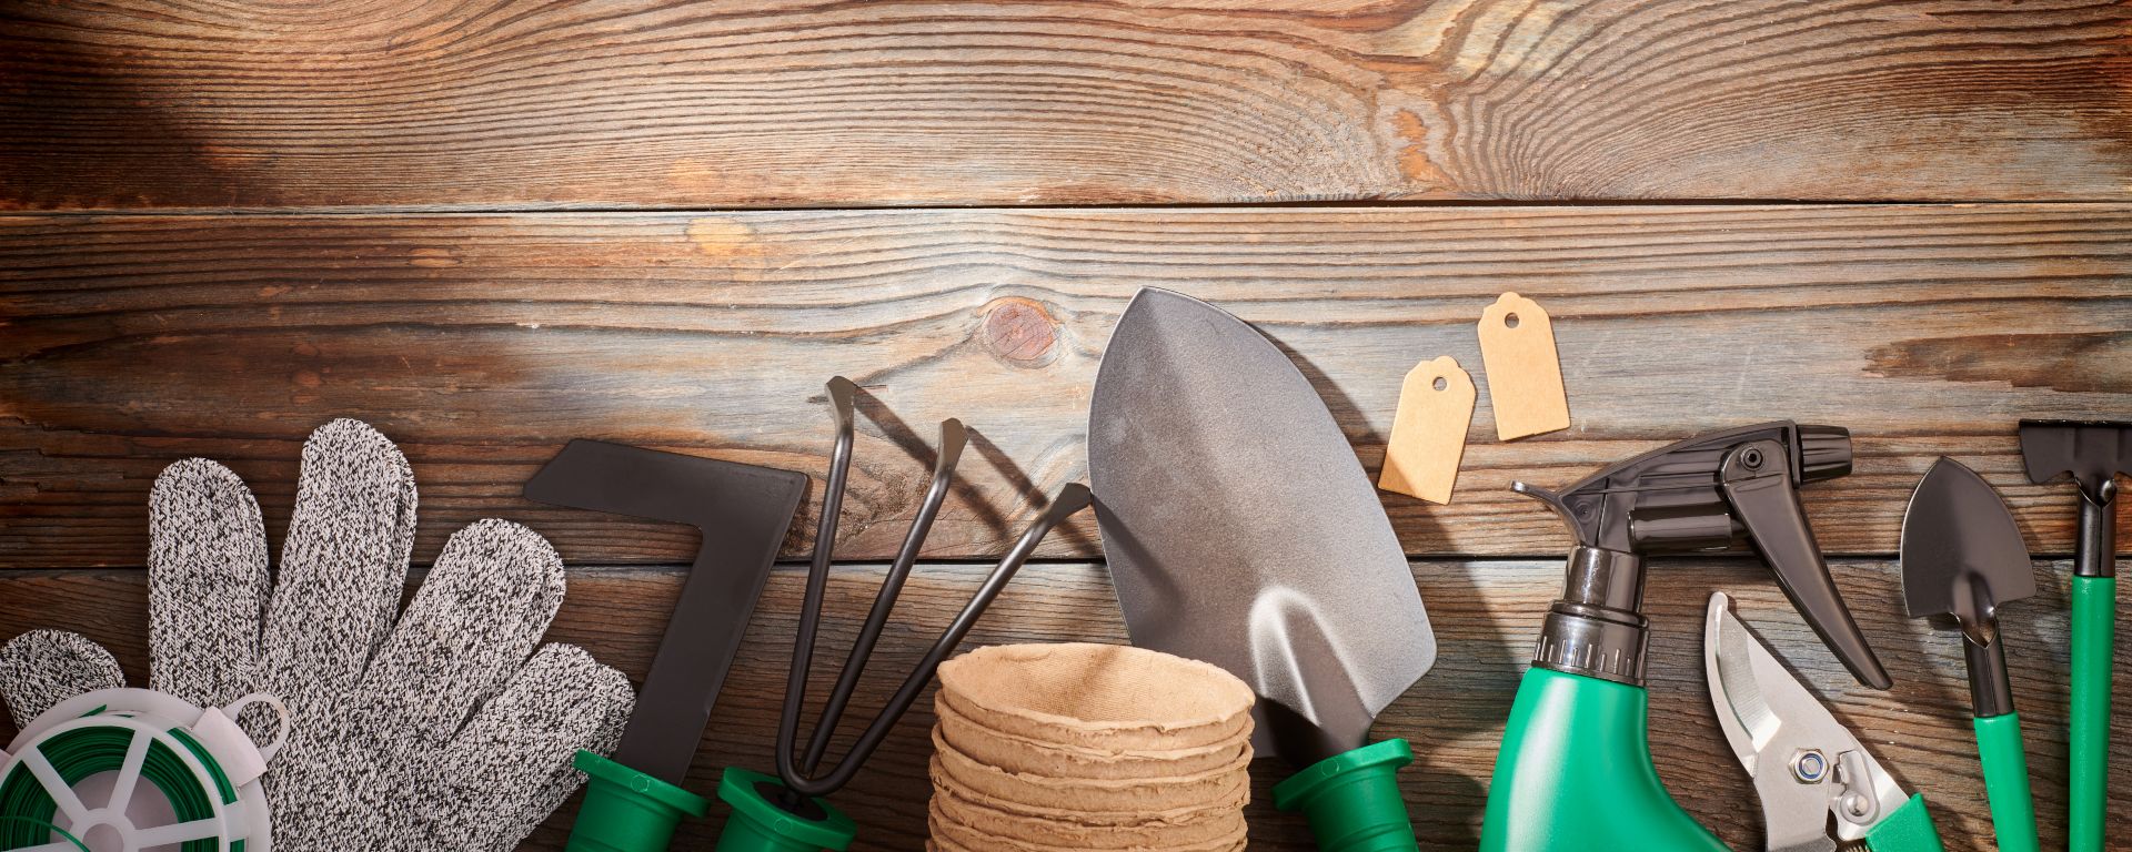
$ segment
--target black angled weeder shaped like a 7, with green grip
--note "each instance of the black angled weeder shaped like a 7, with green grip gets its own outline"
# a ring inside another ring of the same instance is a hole
[[[524,496],[701,532],[620,746],[612,758],[582,750],[571,763],[588,777],[571,850],[663,850],[682,816],[710,812],[710,801],[680,784],[806,496],[806,475],[578,439],[527,481]]]

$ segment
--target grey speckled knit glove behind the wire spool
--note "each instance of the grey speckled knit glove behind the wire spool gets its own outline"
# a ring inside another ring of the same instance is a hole
[[[524,526],[452,535],[401,611],[414,507],[392,441],[354,420],[320,426],[269,586],[266,530],[235,473],[190,458],[156,479],[149,686],[200,707],[249,692],[288,705],[264,777],[277,852],[510,850],[584,782],[569,767],[580,748],[614,750],[635,703],[584,650],[535,650],[563,562]],[[81,662],[51,673],[51,660]],[[55,630],[0,650],[17,720],[75,686],[117,686],[113,669]]]

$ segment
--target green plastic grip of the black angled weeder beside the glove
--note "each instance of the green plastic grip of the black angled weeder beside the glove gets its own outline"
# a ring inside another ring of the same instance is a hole
[[[704,797],[599,754],[578,752],[569,765],[586,775],[569,852],[665,852],[682,816],[710,812]]]

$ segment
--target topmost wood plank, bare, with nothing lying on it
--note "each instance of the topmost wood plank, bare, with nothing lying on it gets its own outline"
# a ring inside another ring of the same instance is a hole
[[[0,207],[2085,198],[2113,0],[9,4]]]

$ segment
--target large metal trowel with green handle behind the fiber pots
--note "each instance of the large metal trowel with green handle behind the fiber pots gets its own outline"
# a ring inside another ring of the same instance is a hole
[[[1087,415],[1102,552],[1132,643],[1258,692],[1273,803],[1324,850],[1414,850],[1405,739],[1369,726],[1437,641],[1384,505],[1309,379],[1234,315],[1141,290]]]

